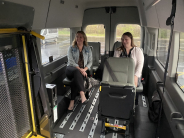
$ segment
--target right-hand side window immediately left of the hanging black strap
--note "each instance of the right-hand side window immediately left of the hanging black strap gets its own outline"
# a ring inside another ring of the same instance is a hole
[[[168,46],[169,46],[169,38],[170,38],[170,30],[159,29],[158,32],[158,45],[157,45],[157,59],[165,68]]]

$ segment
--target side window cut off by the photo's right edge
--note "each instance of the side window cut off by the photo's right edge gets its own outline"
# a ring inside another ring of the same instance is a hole
[[[184,33],[180,33],[180,48],[177,67],[178,79],[177,84],[184,91]]]

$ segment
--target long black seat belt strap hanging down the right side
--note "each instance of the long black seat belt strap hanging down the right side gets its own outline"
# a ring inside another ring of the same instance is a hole
[[[175,13],[176,13],[176,0],[172,0],[171,15],[166,20],[166,25],[171,26],[171,33],[170,33],[168,54],[167,54],[167,60],[166,60],[166,65],[165,65],[165,71],[164,71],[163,94],[165,92],[164,88],[165,88],[165,82],[166,82],[166,76],[167,76],[167,69],[168,69],[168,65],[169,65],[169,56],[170,56],[171,42],[172,42],[172,37],[173,37],[173,30],[174,30]],[[157,126],[157,130],[156,130],[156,135],[155,135],[156,138],[159,138],[158,134],[159,134],[159,126],[160,126],[160,121],[161,121],[162,109],[163,109],[163,105],[162,105],[162,98],[161,98],[161,107],[160,107],[160,111],[159,111],[159,121],[158,121],[158,126]]]

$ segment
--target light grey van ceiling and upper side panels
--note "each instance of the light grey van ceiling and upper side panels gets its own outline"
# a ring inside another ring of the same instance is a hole
[[[81,27],[85,9],[107,6],[137,6],[142,26],[167,28],[165,22],[171,13],[172,0],[4,0],[31,6],[35,9],[33,29],[56,27]],[[76,8],[77,7],[77,8]],[[148,8],[150,7],[150,8]],[[175,28],[184,32],[184,1],[177,0]]]

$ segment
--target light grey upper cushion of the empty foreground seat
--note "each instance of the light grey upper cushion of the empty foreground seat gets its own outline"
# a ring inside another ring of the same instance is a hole
[[[135,64],[132,58],[109,57],[107,62],[109,63],[118,82],[134,85]],[[113,82],[113,79],[105,65],[102,81]]]

